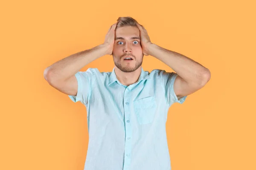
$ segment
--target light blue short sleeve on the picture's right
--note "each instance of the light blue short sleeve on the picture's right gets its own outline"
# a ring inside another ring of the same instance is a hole
[[[166,103],[168,105],[172,105],[175,102],[182,104],[187,96],[177,98],[177,95],[174,92],[174,82],[178,74],[175,72],[169,73],[161,70],[158,76],[160,78],[160,83],[165,91]]]

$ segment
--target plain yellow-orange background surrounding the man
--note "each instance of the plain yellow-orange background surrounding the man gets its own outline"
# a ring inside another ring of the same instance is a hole
[[[86,108],[51,87],[44,69],[102,44],[126,16],[145,26],[151,42],[211,71],[204,88],[169,109],[172,170],[256,170],[254,2],[1,2],[0,170],[83,169]],[[81,71],[113,66],[106,55]],[[172,71],[152,56],[144,56],[143,69]]]

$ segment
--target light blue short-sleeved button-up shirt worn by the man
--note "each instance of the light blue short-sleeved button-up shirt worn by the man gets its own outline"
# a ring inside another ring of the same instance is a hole
[[[87,109],[89,143],[84,170],[171,170],[166,138],[169,107],[182,104],[174,81],[177,73],[143,71],[132,85],[122,85],[113,68],[88,68],[75,74],[73,102]]]

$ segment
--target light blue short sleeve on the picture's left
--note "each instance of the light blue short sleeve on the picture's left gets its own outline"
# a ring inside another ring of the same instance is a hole
[[[88,105],[90,101],[90,95],[93,87],[93,82],[96,79],[96,75],[92,68],[88,68],[87,71],[79,71],[75,74],[78,90],[76,96],[68,95],[73,102],[81,102],[84,105]]]

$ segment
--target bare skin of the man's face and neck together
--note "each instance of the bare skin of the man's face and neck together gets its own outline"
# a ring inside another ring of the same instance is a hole
[[[113,44],[113,61],[115,63],[115,72],[117,79],[123,85],[131,85],[137,82],[141,73],[143,62],[143,49],[140,39],[130,39],[131,37],[140,38],[140,30],[137,26],[125,26],[117,28]],[[125,61],[125,57],[131,57],[133,60]]]

